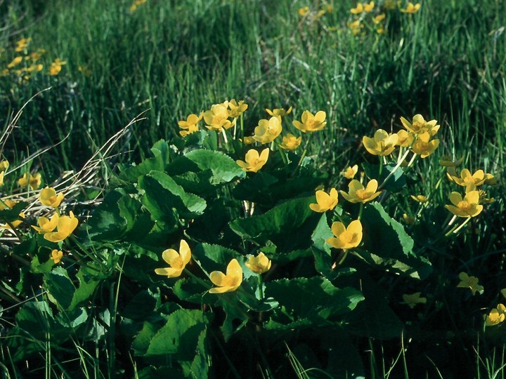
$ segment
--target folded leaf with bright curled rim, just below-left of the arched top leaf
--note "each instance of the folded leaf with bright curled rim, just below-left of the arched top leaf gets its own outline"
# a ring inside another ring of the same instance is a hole
[[[183,218],[195,218],[201,215],[207,204],[202,197],[186,193],[166,173],[152,171],[139,179],[139,185],[145,191],[143,204],[155,216],[155,220],[163,215],[171,215],[173,209]]]

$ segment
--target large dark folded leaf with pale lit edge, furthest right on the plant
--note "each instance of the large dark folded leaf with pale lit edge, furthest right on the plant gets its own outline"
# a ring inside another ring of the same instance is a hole
[[[430,262],[413,252],[414,241],[403,225],[391,218],[380,203],[367,204],[361,222],[365,251],[355,251],[361,258],[420,279],[432,272]]]

